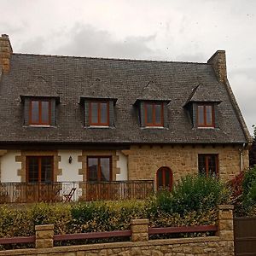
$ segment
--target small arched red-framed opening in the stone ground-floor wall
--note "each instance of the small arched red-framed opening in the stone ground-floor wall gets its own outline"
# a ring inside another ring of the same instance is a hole
[[[160,167],[156,172],[157,190],[165,188],[172,190],[172,170],[169,167]]]

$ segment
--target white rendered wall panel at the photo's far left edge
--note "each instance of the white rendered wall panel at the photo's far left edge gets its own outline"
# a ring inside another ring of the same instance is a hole
[[[15,156],[20,155],[19,150],[8,150],[1,156],[1,182],[2,183],[20,183],[18,169],[21,169],[21,163],[15,161]]]

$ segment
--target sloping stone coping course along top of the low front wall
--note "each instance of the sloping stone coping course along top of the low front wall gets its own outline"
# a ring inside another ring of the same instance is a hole
[[[211,241],[221,241],[218,236],[207,236],[207,237],[191,237],[191,238],[172,238],[172,239],[159,239],[159,240],[149,240],[149,241],[123,241],[123,242],[109,242],[109,243],[99,243],[99,244],[89,244],[89,245],[75,245],[66,247],[52,247],[52,248],[30,248],[30,249],[17,249],[0,251],[0,256],[13,256],[13,255],[35,255],[35,254],[45,254],[46,253],[67,253],[67,252],[80,252],[80,251],[90,251],[90,250],[101,250],[101,249],[113,249],[122,247],[147,247],[147,246],[163,246],[172,244],[189,244],[196,242],[211,242]]]

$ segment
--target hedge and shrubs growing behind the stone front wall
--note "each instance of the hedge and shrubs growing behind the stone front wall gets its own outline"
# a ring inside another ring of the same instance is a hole
[[[144,201],[1,206],[0,238],[34,236],[34,227],[39,224],[54,224],[55,234],[61,235],[129,230],[133,218],[148,218],[150,227],[214,225],[217,205],[230,203],[235,205],[236,216],[256,215],[256,167],[238,175],[228,184],[216,177],[189,175],[176,183],[172,191],[163,189]],[[190,233],[178,234],[178,237],[211,235],[211,232]],[[163,236],[173,237],[175,234],[162,235],[160,238]],[[59,242],[59,245],[102,241],[123,240],[116,237],[107,240],[65,241]],[[24,245],[2,245],[0,249],[17,247]]]

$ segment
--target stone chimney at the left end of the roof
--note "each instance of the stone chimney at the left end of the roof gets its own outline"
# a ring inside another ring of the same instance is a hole
[[[9,73],[9,62],[12,53],[13,49],[9,42],[9,36],[3,34],[0,37],[0,68],[2,68],[3,73]]]

